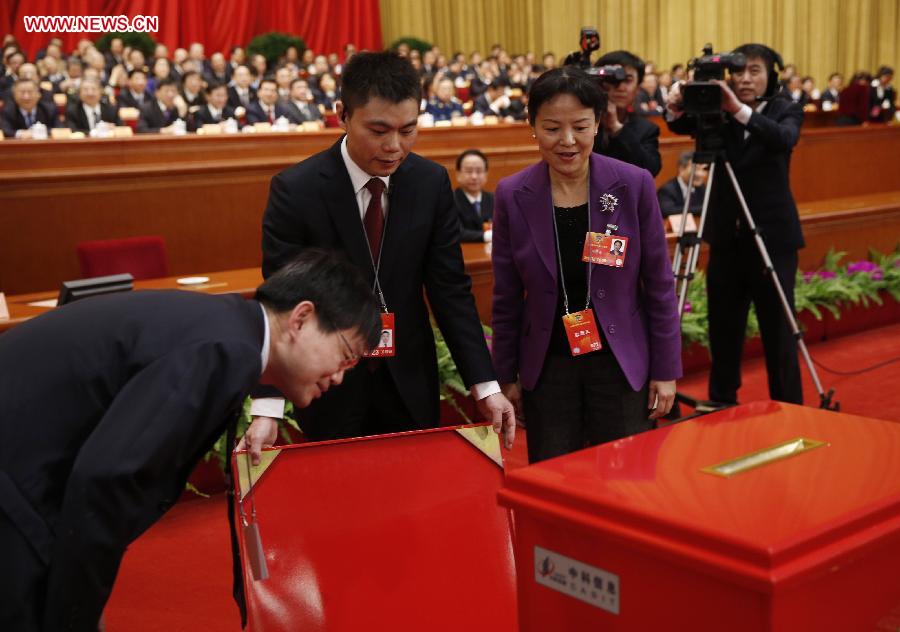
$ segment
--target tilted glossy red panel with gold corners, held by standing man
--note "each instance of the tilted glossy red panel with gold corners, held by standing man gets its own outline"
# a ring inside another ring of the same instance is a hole
[[[503,467],[489,425],[306,443],[233,461],[249,629],[516,630]],[[257,573],[258,575],[258,573]]]

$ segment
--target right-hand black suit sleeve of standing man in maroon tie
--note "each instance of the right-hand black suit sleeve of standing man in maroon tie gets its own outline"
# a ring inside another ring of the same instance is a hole
[[[425,264],[425,291],[463,382],[471,387],[496,376],[459,247],[459,217],[446,171],[439,190]]]

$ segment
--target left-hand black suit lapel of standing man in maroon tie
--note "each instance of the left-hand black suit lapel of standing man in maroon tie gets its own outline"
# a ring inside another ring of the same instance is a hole
[[[341,141],[328,150],[328,160],[320,170],[320,175],[324,178],[322,197],[325,207],[335,232],[344,244],[347,257],[363,270],[370,270],[372,260],[369,256],[369,243],[359,217],[356,192],[341,156]]]

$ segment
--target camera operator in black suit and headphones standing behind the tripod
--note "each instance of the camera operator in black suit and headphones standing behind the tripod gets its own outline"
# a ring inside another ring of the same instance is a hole
[[[734,52],[746,57],[745,68],[732,71],[729,83],[716,81],[721,86],[721,107],[726,113],[722,130],[724,157],[734,169],[793,309],[797,251],[804,243],[788,171],[791,152],[800,137],[803,111],[789,99],[776,96],[775,63],[777,60],[781,64],[781,60],[775,51],[760,44],[745,44]],[[673,132],[687,134],[695,131],[696,119],[682,111],[682,85],[669,93],[666,118]],[[800,404],[803,391],[796,341],[746,226],[722,154],[716,163],[703,234],[710,245],[709,397],[717,402],[737,402],[741,352],[752,301],[765,350],[769,395],[774,400]]]

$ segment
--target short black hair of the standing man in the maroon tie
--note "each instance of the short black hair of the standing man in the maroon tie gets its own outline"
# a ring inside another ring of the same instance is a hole
[[[357,53],[344,66],[341,80],[341,102],[347,116],[373,97],[391,103],[412,99],[416,104],[422,98],[416,69],[393,51]]]

